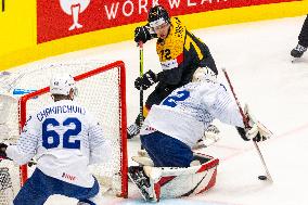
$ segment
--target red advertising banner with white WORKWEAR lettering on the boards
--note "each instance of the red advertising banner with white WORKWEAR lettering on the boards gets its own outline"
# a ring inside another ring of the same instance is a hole
[[[138,23],[153,4],[170,16],[296,0],[37,0],[37,41]]]

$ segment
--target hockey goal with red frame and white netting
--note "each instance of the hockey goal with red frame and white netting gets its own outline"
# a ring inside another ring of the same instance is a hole
[[[14,143],[18,138],[20,128],[25,125],[29,114],[52,103],[49,81],[52,75],[61,73],[75,76],[78,89],[76,101],[94,114],[103,128],[104,136],[112,141],[113,161],[90,166],[91,171],[100,181],[103,190],[108,190],[110,193],[117,196],[127,197],[126,78],[125,65],[120,61],[108,65],[95,61],[57,63],[36,67],[36,69],[25,73],[5,73],[2,74],[2,77],[0,73],[0,94],[1,90],[9,93],[21,90],[33,91],[18,98],[18,103],[12,103],[11,107],[7,110],[10,113],[4,125],[9,132],[1,138],[1,141]],[[0,169],[1,167],[5,168],[5,164],[1,166],[0,163]],[[10,177],[12,180],[10,187],[13,187],[11,195],[15,195],[20,189],[16,184],[23,184],[31,175],[34,167],[22,166],[21,171],[16,171],[18,167],[10,165],[9,169],[15,169],[11,171],[12,175],[21,174],[21,177]],[[9,198],[11,195],[4,192],[2,194],[0,190],[0,205],[11,201],[12,198]]]

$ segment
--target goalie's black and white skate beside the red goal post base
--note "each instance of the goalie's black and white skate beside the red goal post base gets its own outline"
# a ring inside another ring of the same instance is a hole
[[[153,201],[153,197],[150,195],[150,179],[146,177],[143,171],[143,167],[140,166],[131,166],[128,168],[128,177],[129,179],[138,187],[139,192],[142,197],[149,202]]]

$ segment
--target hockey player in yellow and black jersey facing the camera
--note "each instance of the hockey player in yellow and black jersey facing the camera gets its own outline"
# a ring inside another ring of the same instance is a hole
[[[134,41],[157,38],[156,52],[162,65],[162,72],[153,73],[151,69],[142,77],[138,77],[134,87],[146,90],[157,82],[155,90],[145,102],[145,112],[153,104],[159,104],[175,89],[191,81],[194,72],[198,67],[208,67],[216,78],[218,71],[207,46],[192,33],[178,17],[169,17],[168,12],[162,5],[155,5],[149,11],[147,24],[137,27]],[[145,116],[144,116],[145,117]],[[128,138],[133,138],[140,130],[140,117],[128,127]]]

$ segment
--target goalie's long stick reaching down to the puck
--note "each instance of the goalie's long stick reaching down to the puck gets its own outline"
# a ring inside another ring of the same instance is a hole
[[[228,81],[228,84],[229,84],[229,87],[230,87],[230,89],[231,89],[231,91],[232,91],[232,94],[233,94],[233,97],[234,97],[234,99],[235,99],[235,102],[236,102],[238,107],[239,107],[239,110],[240,110],[240,113],[241,113],[241,115],[242,115],[242,118],[243,118],[243,123],[244,123],[244,125],[245,125],[245,128],[248,128],[248,127],[249,127],[248,120],[247,120],[247,118],[246,118],[246,116],[245,116],[245,114],[244,114],[244,112],[243,112],[243,108],[242,108],[242,106],[241,106],[241,104],[240,104],[240,101],[239,101],[239,99],[238,99],[238,97],[236,97],[236,94],[235,94],[235,92],[234,92],[233,86],[232,86],[232,84],[231,84],[231,81],[230,81],[230,78],[229,78],[229,75],[228,75],[226,68],[222,68],[222,72],[223,72],[224,77],[226,77],[226,79],[227,79],[227,81]],[[264,165],[264,168],[265,168],[265,170],[266,170],[266,172],[267,172],[267,178],[270,180],[270,182],[273,182],[273,180],[272,180],[272,178],[271,178],[271,175],[270,175],[270,172],[269,172],[269,170],[268,170],[268,167],[267,167],[267,165],[266,165],[265,158],[264,158],[264,156],[262,156],[262,154],[261,154],[261,151],[260,151],[260,149],[259,149],[257,142],[254,141],[254,144],[255,144],[255,148],[256,148],[257,151],[258,151],[259,157],[260,157],[261,163],[262,163],[262,165]]]

